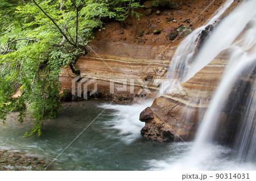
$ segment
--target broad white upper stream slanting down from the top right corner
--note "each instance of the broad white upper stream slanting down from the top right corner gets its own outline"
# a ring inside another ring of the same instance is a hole
[[[255,3],[256,1],[246,1],[218,24],[216,30],[200,50],[193,65],[188,67],[189,71],[184,82],[209,64],[222,50],[230,47],[246,24],[255,16]]]

